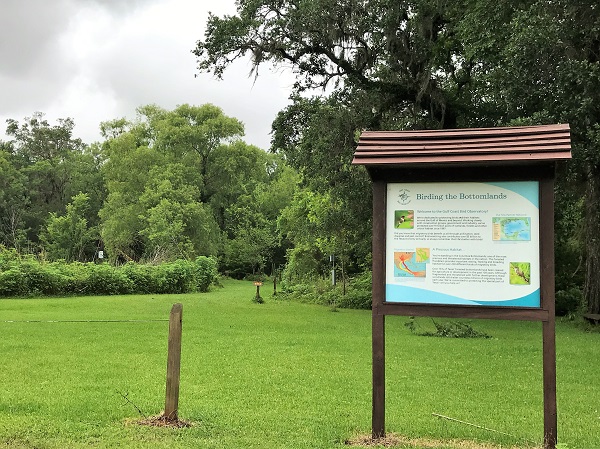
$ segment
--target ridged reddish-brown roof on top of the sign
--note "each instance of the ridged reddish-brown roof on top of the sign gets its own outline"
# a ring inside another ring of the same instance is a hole
[[[365,131],[353,164],[527,163],[571,159],[569,125]]]

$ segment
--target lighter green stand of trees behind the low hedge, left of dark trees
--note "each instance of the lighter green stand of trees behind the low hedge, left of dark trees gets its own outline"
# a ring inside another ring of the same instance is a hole
[[[297,175],[245,144],[212,105],[139,108],[84,145],[70,119],[9,120],[0,143],[0,244],[40,260],[219,258],[232,275],[284,262],[277,217]]]

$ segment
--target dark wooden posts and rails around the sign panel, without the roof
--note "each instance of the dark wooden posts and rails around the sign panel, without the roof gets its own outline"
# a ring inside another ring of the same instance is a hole
[[[373,180],[373,438],[385,435],[385,316],[427,316],[541,321],[543,338],[544,444],[554,448],[557,441],[556,341],[554,306],[554,164],[506,169],[489,167],[474,177],[472,170],[456,167],[452,173],[441,169],[370,170]],[[498,182],[539,183],[540,307],[479,307],[446,304],[393,303],[386,301],[386,201],[390,182]]]

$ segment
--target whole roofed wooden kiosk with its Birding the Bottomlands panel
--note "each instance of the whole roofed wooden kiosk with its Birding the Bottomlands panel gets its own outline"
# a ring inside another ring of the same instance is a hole
[[[385,316],[543,323],[544,447],[557,442],[554,179],[568,125],[363,132],[373,181],[373,437]]]

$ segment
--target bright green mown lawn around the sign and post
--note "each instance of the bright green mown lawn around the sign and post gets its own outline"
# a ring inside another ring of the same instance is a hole
[[[207,294],[0,300],[0,447],[318,449],[368,434],[370,311],[255,304],[254,294],[226,281]],[[179,415],[193,425],[141,426],[136,407],[164,406],[168,322],[150,320],[168,319],[175,302]],[[406,321],[386,319],[389,432],[443,449],[541,442],[540,323],[474,320],[493,338],[461,340],[415,336]],[[558,323],[557,369],[559,442],[600,448],[600,333]]]

